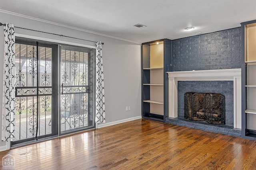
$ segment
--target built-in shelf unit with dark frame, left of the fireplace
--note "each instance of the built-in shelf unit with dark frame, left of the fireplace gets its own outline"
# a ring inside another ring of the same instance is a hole
[[[168,112],[168,76],[171,40],[142,43],[142,117],[165,121]]]

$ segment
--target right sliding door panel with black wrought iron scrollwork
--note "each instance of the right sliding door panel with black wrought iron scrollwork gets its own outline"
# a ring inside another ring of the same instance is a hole
[[[60,48],[60,134],[94,127],[95,49]]]

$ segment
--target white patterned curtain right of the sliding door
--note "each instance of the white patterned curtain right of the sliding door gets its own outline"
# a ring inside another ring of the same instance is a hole
[[[102,43],[96,43],[96,123],[105,123],[105,91],[102,63]]]

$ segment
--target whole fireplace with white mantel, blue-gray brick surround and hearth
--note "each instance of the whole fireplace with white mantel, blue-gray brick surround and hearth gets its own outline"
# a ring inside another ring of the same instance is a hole
[[[191,87],[191,84],[196,84]],[[203,84],[203,85],[198,85]],[[190,123],[184,122],[184,97],[182,100],[178,99],[178,86],[190,86],[192,90],[199,88],[200,92],[204,93],[225,93],[228,96],[226,98],[226,105],[232,102],[232,105],[228,105],[226,110],[228,111],[228,119],[226,118],[227,125],[222,125],[219,127],[207,127],[203,125],[204,128],[198,128],[208,131],[209,129],[215,129],[214,132],[219,132],[224,134],[237,133],[237,129],[241,129],[241,69],[220,69],[220,70],[196,70],[196,71],[178,71],[178,72],[168,72],[168,88],[169,88],[169,117],[166,122],[180,125],[189,125]],[[223,86],[222,91],[218,91],[221,88],[218,86]],[[186,90],[186,88],[183,88]],[[214,90],[215,89],[215,90]],[[224,90],[223,90],[224,89]],[[230,90],[230,91],[228,91]],[[232,94],[231,94],[232,93]],[[225,96],[226,96],[225,95]],[[232,107],[230,109],[230,106]],[[181,109],[183,107],[183,110]],[[183,119],[182,119],[183,117]],[[230,120],[231,119],[231,120]],[[177,123],[180,122],[180,123]],[[193,122],[190,125],[192,127],[202,127],[201,125],[196,125],[198,122]],[[228,126],[228,127],[227,127]],[[224,128],[224,129],[223,129]],[[227,128],[227,129],[225,129]],[[211,131],[211,130],[209,130]],[[234,134],[234,136],[239,136]]]

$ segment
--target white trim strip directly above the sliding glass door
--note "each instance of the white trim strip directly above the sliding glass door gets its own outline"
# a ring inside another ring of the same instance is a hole
[[[52,43],[75,45],[75,46],[80,46],[80,47],[88,47],[88,48],[96,49],[96,47],[92,46],[92,45],[85,45],[85,44],[80,44],[80,43],[71,43],[71,42],[68,42],[68,41],[62,41],[62,40],[50,39],[50,38],[44,38],[44,37],[37,37],[37,36],[33,36],[33,35],[25,35],[25,34],[15,33],[15,37],[23,37],[23,38],[29,38],[29,39],[35,39],[35,40],[41,40],[41,41],[48,41],[48,42],[52,42]]]

